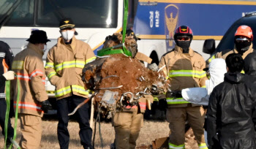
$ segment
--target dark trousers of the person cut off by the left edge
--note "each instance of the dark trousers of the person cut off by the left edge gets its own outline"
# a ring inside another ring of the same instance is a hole
[[[5,121],[5,112],[7,110],[7,104],[4,99],[0,99],[0,125],[1,125],[1,134],[4,135],[4,121]],[[13,137],[13,128],[10,118],[8,119],[7,127],[7,138]],[[7,143],[10,143],[10,140],[7,139]]]

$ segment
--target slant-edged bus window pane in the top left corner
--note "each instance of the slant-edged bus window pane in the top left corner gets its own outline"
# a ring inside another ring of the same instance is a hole
[[[4,26],[33,26],[34,0],[22,1]]]

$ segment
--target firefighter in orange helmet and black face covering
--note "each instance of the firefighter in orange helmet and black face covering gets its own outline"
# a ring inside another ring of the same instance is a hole
[[[225,59],[231,53],[239,53],[244,59],[249,53],[253,52],[252,39],[252,28],[250,28],[249,26],[239,26],[235,33],[234,49],[227,49],[222,52],[216,53],[214,56],[211,56],[208,61],[206,61],[206,64],[208,65],[214,58]]]

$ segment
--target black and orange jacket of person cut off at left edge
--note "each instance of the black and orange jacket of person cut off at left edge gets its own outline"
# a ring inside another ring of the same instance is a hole
[[[7,43],[0,41],[0,75],[12,69],[12,50]],[[0,85],[0,100],[5,99],[5,82]]]

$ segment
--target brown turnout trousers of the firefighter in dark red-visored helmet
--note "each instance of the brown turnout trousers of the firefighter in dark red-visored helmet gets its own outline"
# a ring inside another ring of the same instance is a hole
[[[188,107],[169,107],[166,118],[170,128],[169,148],[185,148],[185,123],[188,121],[199,148],[207,149],[203,131],[205,118],[203,107],[192,107],[191,105]]]

